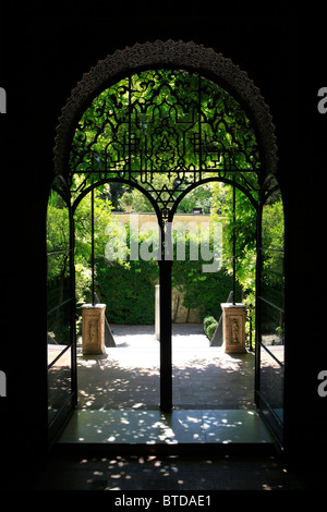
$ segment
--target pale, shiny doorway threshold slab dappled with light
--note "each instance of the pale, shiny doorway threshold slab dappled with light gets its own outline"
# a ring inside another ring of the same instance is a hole
[[[76,410],[57,447],[122,448],[261,447],[274,440],[255,410]]]

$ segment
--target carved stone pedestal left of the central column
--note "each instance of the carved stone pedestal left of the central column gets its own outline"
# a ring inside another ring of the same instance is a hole
[[[105,346],[106,304],[82,306],[82,344],[84,354],[106,354]]]

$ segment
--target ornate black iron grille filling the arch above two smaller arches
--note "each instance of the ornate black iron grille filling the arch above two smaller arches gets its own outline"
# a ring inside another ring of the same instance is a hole
[[[74,133],[69,185],[77,199],[92,184],[123,181],[145,193],[161,223],[190,190],[213,179],[234,184],[256,206],[259,171],[255,132],[239,102],[198,73],[159,69],[131,74],[93,99]]]

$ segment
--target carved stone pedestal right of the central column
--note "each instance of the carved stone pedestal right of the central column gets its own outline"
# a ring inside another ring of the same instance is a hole
[[[246,352],[245,349],[245,304],[221,304],[222,338],[225,352],[235,354]]]

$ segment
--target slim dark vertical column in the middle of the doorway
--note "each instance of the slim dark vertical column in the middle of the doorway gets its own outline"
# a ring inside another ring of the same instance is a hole
[[[171,224],[161,229],[160,276],[160,410],[169,413],[172,409],[171,366]],[[165,251],[166,247],[166,251]],[[169,249],[167,251],[167,247]]]

